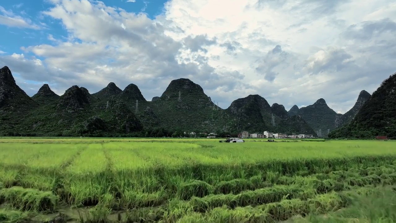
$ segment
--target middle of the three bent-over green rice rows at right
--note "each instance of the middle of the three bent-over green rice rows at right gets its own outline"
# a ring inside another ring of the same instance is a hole
[[[273,187],[262,188],[253,191],[244,191],[240,194],[212,194],[202,198],[193,197],[189,204],[194,207],[194,211],[206,212],[210,209],[227,206],[236,208],[238,206],[256,206],[270,202],[279,202],[282,199],[298,198],[307,200],[317,194],[324,194],[330,191],[342,191],[354,186],[366,185],[392,185],[396,183],[396,175],[382,174],[369,175],[366,177],[348,178],[345,182],[332,179],[319,180],[316,177],[293,177],[294,183],[290,185],[274,185]],[[293,179],[291,178],[291,179]],[[289,179],[290,180],[290,179]]]

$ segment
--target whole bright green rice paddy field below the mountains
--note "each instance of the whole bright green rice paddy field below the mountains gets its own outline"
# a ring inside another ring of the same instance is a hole
[[[0,138],[0,222],[395,222],[396,142]]]

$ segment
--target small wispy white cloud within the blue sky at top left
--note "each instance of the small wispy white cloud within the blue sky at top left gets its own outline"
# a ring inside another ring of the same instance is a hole
[[[21,6],[21,4],[18,4],[14,7],[20,8]],[[0,6],[0,25],[18,28],[41,29],[40,26],[32,23],[29,18],[15,15],[15,13],[13,13],[11,10],[6,10],[2,6]]]

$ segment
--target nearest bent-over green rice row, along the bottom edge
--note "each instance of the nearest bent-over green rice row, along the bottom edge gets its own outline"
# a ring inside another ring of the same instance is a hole
[[[373,186],[368,186],[357,188],[353,191],[341,192],[341,194],[331,192],[329,194],[316,195],[307,200],[282,200],[254,208],[246,206],[231,210],[219,207],[207,213],[196,213],[193,211],[194,207],[188,202],[172,199],[168,204],[158,208],[137,208],[125,211],[116,216],[117,220],[115,220],[114,214],[110,218],[107,217],[110,213],[109,209],[97,206],[86,214],[84,222],[274,222],[286,220],[296,214],[328,213],[348,206],[351,202],[351,196],[366,196],[374,190]]]

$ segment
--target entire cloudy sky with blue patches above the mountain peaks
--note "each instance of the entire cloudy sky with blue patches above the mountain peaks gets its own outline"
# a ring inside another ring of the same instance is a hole
[[[151,100],[188,78],[221,108],[259,94],[345,113],[396,72],[394,0],[3,0],[0,31],[29,96],[114,82]]]

